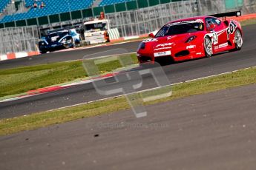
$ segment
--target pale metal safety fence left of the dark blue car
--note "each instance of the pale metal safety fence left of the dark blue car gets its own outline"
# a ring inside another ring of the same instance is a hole
[[[15,52],[37,52],[37,27],[10,27],[0,29],[0,55]]]

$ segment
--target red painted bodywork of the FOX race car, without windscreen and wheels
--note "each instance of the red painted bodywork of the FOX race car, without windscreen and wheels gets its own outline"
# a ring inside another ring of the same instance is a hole
[[[209,20],[217,21],[217,24],[211,26]],[[178,35],[166,35],[157,38],[151,38],[142,41],[137,50],[137,58],[140,63],[156,61],[158,58],[171,57],[174,61],[185,61],[194,58],[203,58],[206,56],[204,49],[204,38],[209,36],[212,43],[212,54],[232,50],[235,48],[234,31],[242,29],[239,22],[233,20],[221,21],[220,18],[212,16],[201,16],[194,18],[185,18],[177,21],[171,21],[166,25],[176,24],[186,21],[200,21],[203,29],[195,33],[183,33]],[[193,41],[186,42],[191,36],[196,36]],[[155,56],[157,55],[157,56]],[[160,56],[158,56],[160,55]]]

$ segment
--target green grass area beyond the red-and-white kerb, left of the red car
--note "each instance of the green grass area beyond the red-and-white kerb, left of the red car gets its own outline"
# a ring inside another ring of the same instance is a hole
[[[136,55],[131,54],[131,57],[134,64],[137,63]],[[109,61],[99,64],[99,71],[104,74],[120,67],[121,64],[118,61]],[[87,77],[82,61],[0,69],[0,98]]]

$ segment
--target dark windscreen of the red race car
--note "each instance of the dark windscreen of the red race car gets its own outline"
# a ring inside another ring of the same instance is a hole
[[[174,24],[167,24],[163,26],[155,37],[163,37],[169,35],[177,35],[184,33],[195,33],[197,31],[203,31],[203,22],[179,22]]]

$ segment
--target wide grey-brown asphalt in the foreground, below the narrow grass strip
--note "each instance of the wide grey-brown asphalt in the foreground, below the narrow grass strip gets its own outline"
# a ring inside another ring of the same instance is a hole
[[[0,137],[0,169],[252,170],[256,85]]]

